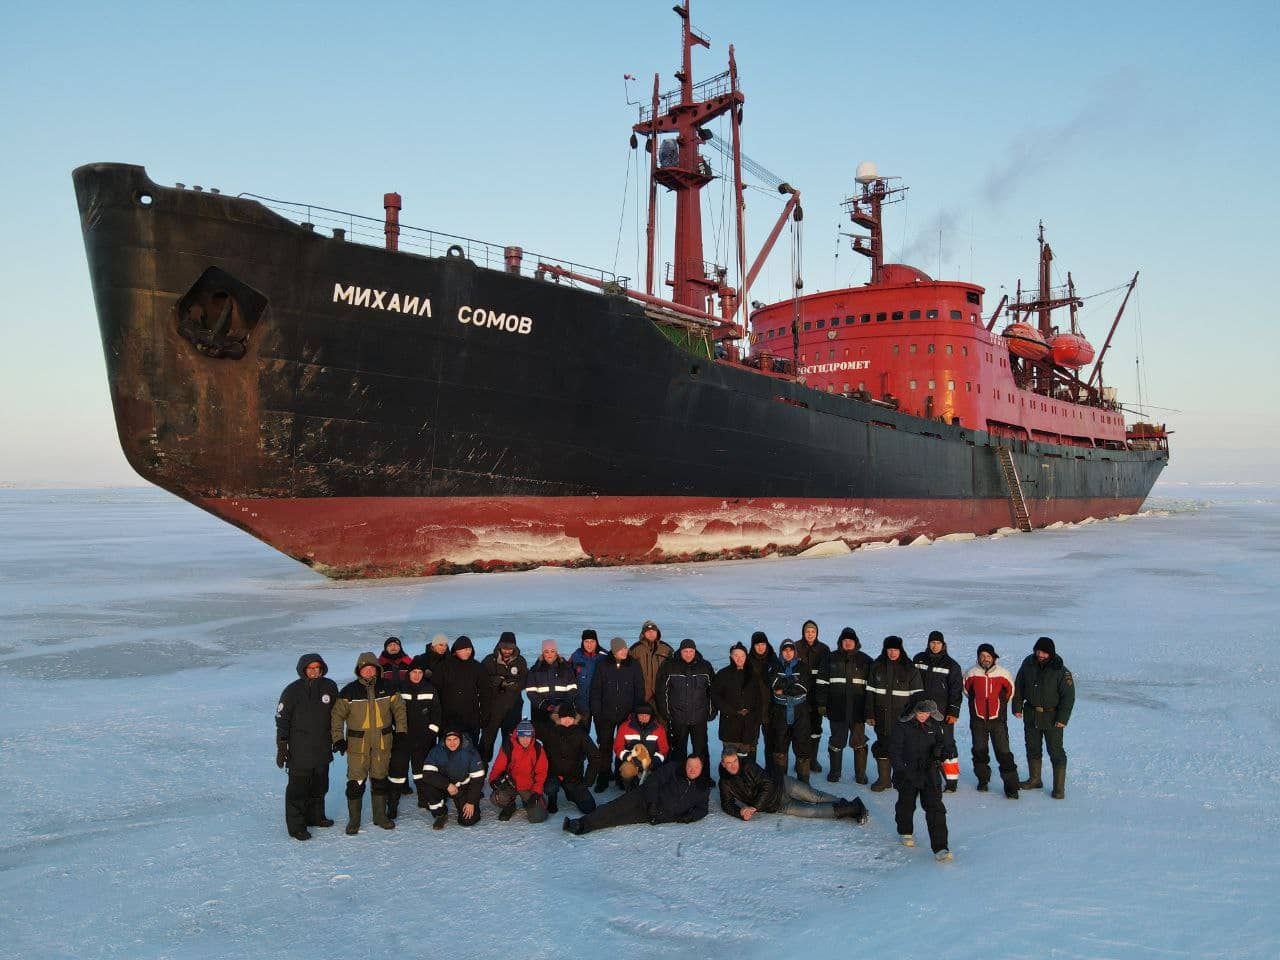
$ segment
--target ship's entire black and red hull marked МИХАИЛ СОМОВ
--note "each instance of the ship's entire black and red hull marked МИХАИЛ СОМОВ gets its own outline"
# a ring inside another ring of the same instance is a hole
[[[682,349],[625,296],[74,173],[120,443],[330,576],[759,556],[1135,512],[1165,451],[993,438]]]

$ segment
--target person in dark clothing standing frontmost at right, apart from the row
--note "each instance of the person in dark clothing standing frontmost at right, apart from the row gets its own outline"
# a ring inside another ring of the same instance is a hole
[[[947,850],[947,808],[942,805],[942,776],[938,771],[946,750],[942,714],[933,700],[908,707],[888,739],[893,786],[897,787],[893,813],[899,837],[902,846],[915,846],[911,820],[915,819],[915,799],[919,797],[924,822],[929,827],[929,845],[940,863],[951,859]]]

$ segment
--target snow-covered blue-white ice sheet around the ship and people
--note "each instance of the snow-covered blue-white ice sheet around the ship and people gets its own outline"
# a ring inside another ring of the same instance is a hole
[[[0,490],[0,956],[1271,956],[1280,489],[1170,493],[1143,522],[945,549],[333,584],[155,490]],[[716,666],[806,617],[873,652],[941,628],[965,667],[991,641],[1016,669],[1048,634],[1079,689],[1068,799],[977,794],[961,721],[945,865],[865,787],[864,828],[742,824],[713,796],[694,826],[581,838],[492,808],[433,833],[410,803],[347,837],[340,760],[339,827],[285,836],[273,713],[298,654],[344,682],[389,634],[488,652],[512,628],[531,654],[648,617]]]

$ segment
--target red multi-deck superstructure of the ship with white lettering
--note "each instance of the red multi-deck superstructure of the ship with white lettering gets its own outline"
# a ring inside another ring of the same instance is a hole
[[[996,333],[1007,300],[984,319],[982,287],[883,261],[881,209],[906,188],[891,186],[865,163],[858,182],[859,193],[845,206],[869,230],[854,238],[852,248],[870,260],[870,283],[756,308],[753,356],[794,362],[814,389],[928,420],[1043,443],[1125,445],[1124,415],[1111,392],[1079,376],[1093,347],[1075,329],[1080,301],[1070,279],[1064,296],[1053,296],[1043,227],[1038,293],[1024,300],[1019,291],[1009,305],[1015,323]],[[1059,307],[1071,308],[1070,333],[1051,326]],[[1021,315],[1034,315],[1038,324],[1018,321]]]

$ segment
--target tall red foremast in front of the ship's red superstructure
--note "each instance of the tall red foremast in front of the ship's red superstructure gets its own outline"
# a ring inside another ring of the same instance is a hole
[[[704,131],[703,124],[737,109],[745,97],[737,90],[736,70],[726,70],[701,83],[694,83],[694,46],[709,49],[710,41],[690,24],[690,3],[691,0],[685,0],[673,8],[681,19],[681,68],[676,73],[680,90],[663,93],[660,97],[654,96],[653,106],[641,111],[640,123],[635,124],[634,129],[648,137],[646,147],[653,155],[650,197],[653,197],[653,183],[660,183],[676,195],[676,247],[672,256],[672,276],[668,280],[672,287],[671,298],[694,310],[713,312],[708,298],[716,293],[723,296],[733,292],[724,285],[722,273],[708,270],[703,262],[700,193],[714,177],[710,165],[698,152],[698,147],[704,140],[710,140],[710,131]],[[650,223],[653,215],[650,202]],[[650,278],[653,257],[650,241],[646,269],[646,275]],[[648,285],[652,291],[652,284]],[[722,305],[722,312],[731,316],[732,312],[726,310],[726,306]]]

